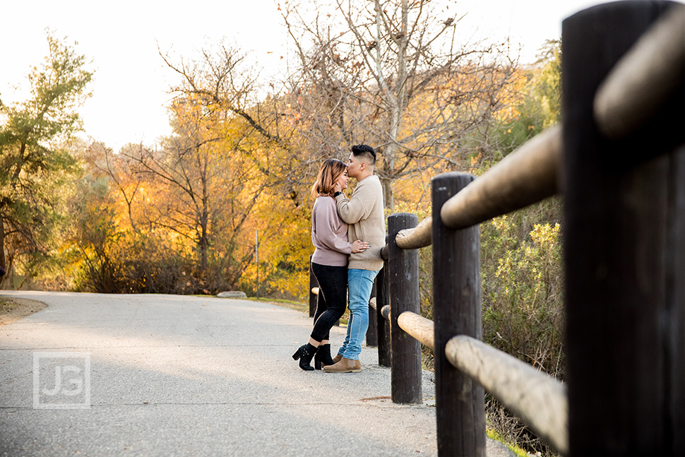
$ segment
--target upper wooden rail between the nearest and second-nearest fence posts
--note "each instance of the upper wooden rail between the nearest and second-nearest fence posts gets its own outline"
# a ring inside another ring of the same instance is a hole
[[[471,227],[556,194],[561,142],[561,126],[554,126],[523,143],[450,198],[440,210],[443,223]]]

